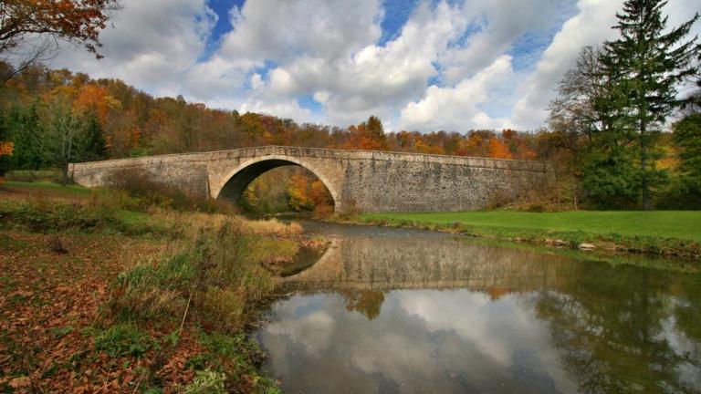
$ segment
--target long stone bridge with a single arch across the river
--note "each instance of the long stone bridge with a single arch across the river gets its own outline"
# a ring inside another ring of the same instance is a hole
[[[340,213],[479,210],[543,188],[551,173],[539,161],[282,146],[72,163],[68,171],[89,187],[115,171],[147,171],[196,196],[237,202],[256,177],[285,165],[316,175]]]

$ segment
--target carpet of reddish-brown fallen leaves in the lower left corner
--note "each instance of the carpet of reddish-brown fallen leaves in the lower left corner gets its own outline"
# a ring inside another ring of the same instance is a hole
[[[77,233],[62,237],[70,254],[60,254],[50,235],[0,235],[9,239],[0,254],[0,391],[131,392],[133,368],[150,368],[152,360],[122,368],[124,360],[96,354],[85,329],[96,322],[116,275],[160,245]]]

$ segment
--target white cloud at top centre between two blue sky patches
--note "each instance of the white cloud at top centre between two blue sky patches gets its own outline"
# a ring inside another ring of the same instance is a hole
[[[375,42],[382,31],[378,0],[256,0],[231,12],[234,30],[220,55],[282,63],[307,54],[345,57]]]

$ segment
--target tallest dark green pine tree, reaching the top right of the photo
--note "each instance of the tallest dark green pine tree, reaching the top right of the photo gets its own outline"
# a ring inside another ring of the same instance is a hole
[[[602,119],[607,133],[602,142],[618,171],[639,189],[643,209],[650,208],[651,189],[664,173],[656,171],[655,142],[667,118],[682,104],[677,86],[696,74],[693,62],[699,46],[696,37],[686,40],[698,14],[681,26],[665,32],[667,17],[664,0],[626,0],[618,24],[621,36],[604,44],[602,73],[606,76],[605,95],[595,106],[609,114]],[[633,162],[629,161],[633,160]]]

